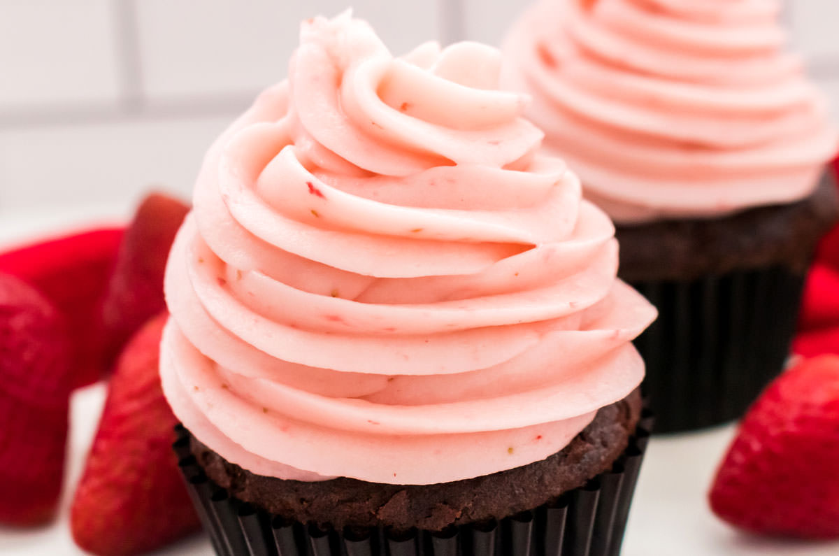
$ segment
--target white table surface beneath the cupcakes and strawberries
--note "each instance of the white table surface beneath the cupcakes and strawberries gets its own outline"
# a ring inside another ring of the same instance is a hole
[[[128,206],[63,208],[38,214],[0,212],[0,248],[91,222],[115,222]],[[68,525],[71,493],[96,432],[105,387],[78,391],[72,400],[70,454],[60,517],[49,527],[15,530],[0,527],[0,554],[65,556],[84,554],[72,542]],[[2,424],[0,424],[2,425]],[[711,514],[706,492],[733,427],[653,438],[633,500],[624,556],[837,556],[839,542],[809,543],[757,538],[727,527]],[[156,556],[211,556],[201,536],[173,545]]]

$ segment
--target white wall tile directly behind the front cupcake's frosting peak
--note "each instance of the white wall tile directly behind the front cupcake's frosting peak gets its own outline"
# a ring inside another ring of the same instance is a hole
[[[441,0],[444,1],[444,0]],[[142,81],[149,97],[255,92],[284,78],[300,21],[346,0],[141,0]],[[437,35],[435,3],[367,0],[355,13],[401,53]]]

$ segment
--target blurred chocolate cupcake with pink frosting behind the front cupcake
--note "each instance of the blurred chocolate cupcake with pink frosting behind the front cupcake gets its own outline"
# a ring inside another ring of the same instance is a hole
[[[529,92],[619,275],[659,308],[638,338],[657,431],[727,422],[784,367],[805,271],[836,220],[826,102],[763,0],[545,0],[502,82]]]

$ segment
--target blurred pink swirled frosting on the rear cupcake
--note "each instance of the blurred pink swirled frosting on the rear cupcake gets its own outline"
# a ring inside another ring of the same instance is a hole
[[[618,223],[793,202],[836,152],[774,0],[543,0],[504,45],[545,147]]]

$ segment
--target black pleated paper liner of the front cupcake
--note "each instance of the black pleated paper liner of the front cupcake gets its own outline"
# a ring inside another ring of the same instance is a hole
[[[220,556],[617,556],[649,439],[645,410],[635,436],[608,473],[532,511],[443,532],[384,527],[343,531],[289,522],[238,501],[213,483],[177,427],[175,452],[190,496]]]

